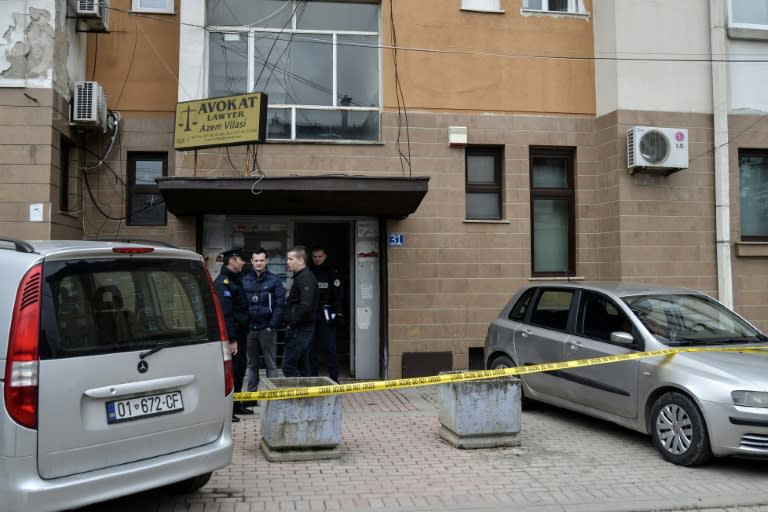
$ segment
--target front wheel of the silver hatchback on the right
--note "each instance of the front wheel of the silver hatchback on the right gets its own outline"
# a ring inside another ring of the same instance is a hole
[[[651,437],[661,456],[681,466],[698,466],[712,458],[704,416],[682,393],[666,393],[651,409]]]

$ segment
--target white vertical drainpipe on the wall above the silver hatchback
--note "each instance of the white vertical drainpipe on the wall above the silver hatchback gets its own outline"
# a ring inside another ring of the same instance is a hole
[[[715,164],[715,233],[718,299],[733,307],[731,272],[731,204],[728,155],[728,67],[724,0],[710,0],[710,55],[712,57],[712,117]]]

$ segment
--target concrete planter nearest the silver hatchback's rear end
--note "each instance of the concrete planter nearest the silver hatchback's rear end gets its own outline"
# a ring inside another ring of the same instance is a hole
[[[519,378],[450,382],[440,384],[438,394],[439,434],[453,446],[472,449],[520,444]]]

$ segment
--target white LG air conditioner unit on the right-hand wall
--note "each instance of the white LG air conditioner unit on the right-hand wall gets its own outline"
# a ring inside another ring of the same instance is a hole
[[[667,175],[688,167],[688,130],[635,126],[627,131],[630,174]]]

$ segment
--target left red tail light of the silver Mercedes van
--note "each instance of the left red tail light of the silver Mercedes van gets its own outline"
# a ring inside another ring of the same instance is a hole
[[[13,306],[5,362],[5,408],[19,425],[37,428],[37,369],[43,266],[32,267],[21,280]]]

